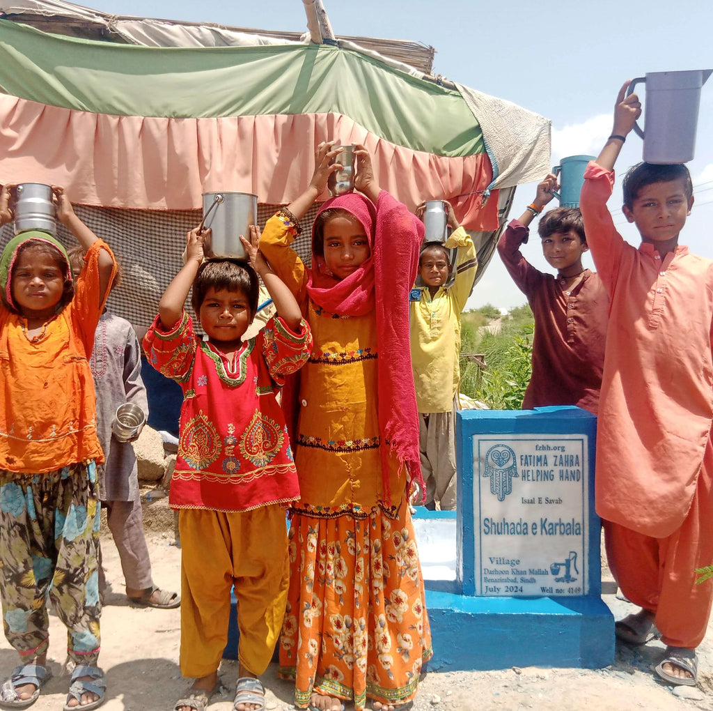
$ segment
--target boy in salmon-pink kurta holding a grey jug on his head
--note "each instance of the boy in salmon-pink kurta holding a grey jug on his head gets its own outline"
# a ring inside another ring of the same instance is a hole
[[[617,637],[667,645],[657,674],[695,685],[713,583],[695,585],[713,560],[713,262],[689,254],[679,233],[693,206],[683,165],[639,163],[624,179],[622,211],[641,234],[617,233],[606,203],[614,163],[641,113],[622,86],[614,128],[585,172],[581,206],[610,294],[597,427],[597,513],[617,583],[642,609]]]

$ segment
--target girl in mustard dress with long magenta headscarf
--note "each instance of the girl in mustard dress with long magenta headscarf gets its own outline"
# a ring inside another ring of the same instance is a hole
[[[410,708],[431,657],[406,492],[420,480],[408,295],[423,223],[380,191],[363,146],[356,189],[320,208],[312,268],[289,248],[339,164],[322,143],[307,191],[267,221],[260,248],[292,289],[315,345],[300,375],[280,673],[300,708]],[[366,196],[366,197],[364,197]],[[291,399],[285,393],[283,403]],[[422,483],[422,480],[421,480]]]

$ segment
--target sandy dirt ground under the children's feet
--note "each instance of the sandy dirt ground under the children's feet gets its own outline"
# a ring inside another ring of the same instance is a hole
[[[144,508],[145,528],[157,585],[168,590],[180,587],[180,549],[173,545],[173,513],[165,498],[152,500]],[[180,641],[179,610],[145,610],[130,607],[123,595],[123,578],[111,536],[103,530],[103,555],[111,589],[101,618],[100,663],[108,680],[106,711],[170,711],[183,694],[187,682],[178,668]],[[610,580],[608,571],[605,580]],[[615,598],[612,583],[605,583],[604,599],[615,617],[633,608]],[[58,619],[51,616],[49,651],[53,679],[32,707],[37,711],[61,709],[66,698],[68,677],[62,675],[66,639]],[[478,640],[454,643],[476,645]],[[602,670],[513,668],[493,672],[429,672],[416,695],[414,711],[486,711],[536,709],[543,711],[622,711],[646,709],[677,711],[713,710],[713,634],[699,647],[699,689],[684,689],[693,698],[674,695],[672,687],[652,676],[663,645],[654,642],[632,649],[617,647],[615,663]],[[0,677],[6,677],[17,662],[4,637],[0,640]],[[224,660],[222,679],[234,688],[237,662]],[[275,665],[262,677],[267,687],[267,708],[292,709],[292,688],[277,679]],[[214,697],[211,711],[230,711],[232,693]],[[347,711],[353,706],[347,705]]]

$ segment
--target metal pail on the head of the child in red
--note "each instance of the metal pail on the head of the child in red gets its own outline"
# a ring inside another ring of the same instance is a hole
[[[245,259],[240,235],[250,239],[250,225],[257,225],[257,195],[250,193],[203,193],[202,226],[210,228],[203,246],[208,258]]]

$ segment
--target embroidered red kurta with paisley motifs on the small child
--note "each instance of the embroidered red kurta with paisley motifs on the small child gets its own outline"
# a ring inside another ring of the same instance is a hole
[[[299,498],[275,395],[309,358],[305,321],[292,333],[282,319],[270,319],[232,360],[201,341],[185,313],[168,332],[156,318],[143,345],[149,363],[183,388],[171,508],[245,511]]]

